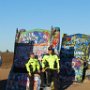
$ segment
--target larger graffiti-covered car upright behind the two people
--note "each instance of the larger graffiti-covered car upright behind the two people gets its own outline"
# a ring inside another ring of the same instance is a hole
[[[56,30],[53,35],[50,33],[49,30],[43,29],[30,31],[21,29],[16,31],[13,66],[9,74],[6,90],[29,90],[30,81],[25,64],[29,59],[30,53],[34,52],[38,60],[42,60],[43,55],[47,54],[50,44],[54,45],[55,51],[58,51],[60,30]],[[50,37],[52,38],[51,42]],[[55,42],[54,38],[58,41]],[[36,86],[36,84],[40,88],[40,77],[36,76],[34,78],[34,85]]]

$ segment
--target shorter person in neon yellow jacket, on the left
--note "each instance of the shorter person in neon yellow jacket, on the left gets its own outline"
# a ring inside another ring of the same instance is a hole
[[[34,90],[34,76],[40,73],[40,65],[38,59],[35,58],[34,53],[30,54],[30,59],[25,66],[30,76],[30,90]]]

